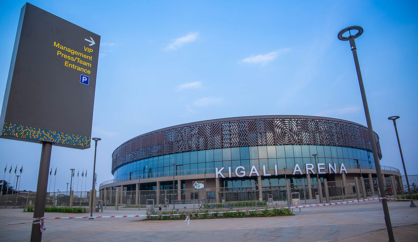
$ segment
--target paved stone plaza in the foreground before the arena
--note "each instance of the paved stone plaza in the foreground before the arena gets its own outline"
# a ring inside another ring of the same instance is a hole
[[[418,240],[418,207],[389,202],[396,241]],[[107,209],[100,215],[137,215]],[[295,210],[295,216],[146,221],[141,218],[47,219],[44,241],[387,241],[380,202]],[[74,216],[45,213],[45,217]],[[87,213],[82,214],[89,215]],[[95,213],[94,215],[99,215]],[[76,214],[81,216],[81,214]],[[0,240],[29,241],[32,213],[0,210]]]

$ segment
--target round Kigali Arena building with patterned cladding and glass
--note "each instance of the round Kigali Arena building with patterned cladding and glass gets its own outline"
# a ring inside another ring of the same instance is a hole
[[[401,186],[398,169],[381,166],[381,172]],[[178,191],[177,200],[220,203],[227,188],[265,191],[286,186],[286,180],[287,185],[306,184],[303,196],[311,199],[317,177],[340,182],[341,195],[355,190],[346,183],[355,177],[366,178],[368,192],[378,190],[368,129],[316,116],[224,118],[152,131],[114,150],[112,174],[114,179],[100,184],[101,191],[154,191],[157,204],[163,190]],[[256,199],[267,200],[268,194],[257,193]]]

